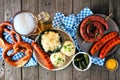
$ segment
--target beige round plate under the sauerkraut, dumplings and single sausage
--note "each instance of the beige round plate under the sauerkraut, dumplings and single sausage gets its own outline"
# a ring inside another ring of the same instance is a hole
[[[73,42],[71,36],[70,36],[68,33],[64,32],[63,30],[55,29],[55,28],[51,28],[50,30],[55,30],[55,31],[57,31],[57,32],[61,35],[61,37],[62,37],[62,42],[67,41],[67,40]],[[38,38],[39,38],[39,36],[36,37],[36,39],[35,39],[36,42],[37,42]],[[38,63],[40,64],[40,66],[42,66],[43,68],[49,70],[49,69],[44,65],[43,60],[40,58],[40,56],[39,56],[36,52],[35,52],[34,54],[35,54],[35,56],[36,56],[36,59],[37,59]],[[49,53],[48,53],[48,54],[49,54]],[[74,55],[72,55],[72,56],[70,56],[70,57],[66,56],[66,63],[65,63],[63,66],[61,66],[61,67],[54,67],[54,69],[52,69],[51,71],[58,71],[58,70],[62,70],[62,69],[64,69],[64,68],[66,68],[66,67],[72,62],[73,56],[74,56]]]

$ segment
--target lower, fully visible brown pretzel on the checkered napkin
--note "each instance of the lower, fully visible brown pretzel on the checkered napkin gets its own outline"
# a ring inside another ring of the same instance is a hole
[[[8,55],[9,50],[13,50],[13,52],[10,55]],[[19,60],[13,60],[12,57],[18,52],[22,52],[25,55]],[[28,62],[28,60],[31,58],[31,56],[32,56],[32,47],[26,42],[17,42],[14,45],[9,45],[3,51],[4,60],[8,64],[15,67],[24,66]]]

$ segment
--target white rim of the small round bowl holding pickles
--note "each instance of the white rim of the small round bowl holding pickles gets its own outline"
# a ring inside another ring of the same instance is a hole
[[[78,56],[79,54],[87,54],[88,57],[89,57],[89,64],[87,65],[87,68],[85,68],[85,69],[80,69],[80,68],[78,68],[78,67],[75,65],[75,63],[74,63],[74,59],[75,59],[76,56]],[[73,66],[74,66],[74,68],[75,68],[76,70],[78,70],[78,71],[86,71],[86,70],[88,70],[88,69],[91,67],[91,65],[92,65],[91,56],[90,56],[87,52],[78,52],[77,54],[74,55],[72,63],[73,63]]]

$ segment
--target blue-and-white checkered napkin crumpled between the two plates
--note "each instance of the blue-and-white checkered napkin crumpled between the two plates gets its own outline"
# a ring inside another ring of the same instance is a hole
[[[77,15],[70,14],[65,16],[61,12],[57,12],[53,18],[52,24],[55,28],[62,29],[66,31],[74,40],[74,43],[78,49],[78,51],[82,51],[76,41],[76,29],[79,23],[87,16],[92,15],[92,11],[86,7],[81,10]],[[92,57],[92,63],[103,66],[105,59],[100,59],[98,57]]]

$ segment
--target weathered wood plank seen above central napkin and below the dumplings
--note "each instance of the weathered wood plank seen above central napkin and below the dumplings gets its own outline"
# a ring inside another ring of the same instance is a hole
[[[72,0],[56,0],[56,11],[61,11],[66,16],[70,15],[72,13],[72,5]],[[57,71],[56,80],[72,80],[72,65]]]

